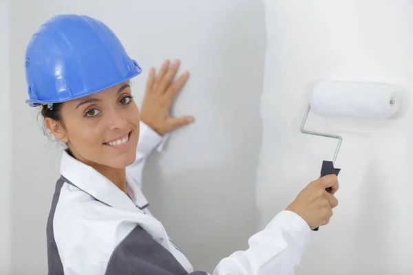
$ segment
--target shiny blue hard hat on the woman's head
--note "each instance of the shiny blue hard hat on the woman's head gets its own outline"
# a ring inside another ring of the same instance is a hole
[[[31,107],[82,98],[123,83],[142,70],[104,23],[62,14],[41,25],[25,52]]]

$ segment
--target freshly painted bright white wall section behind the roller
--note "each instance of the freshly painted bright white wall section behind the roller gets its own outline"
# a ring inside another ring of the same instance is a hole
[[[268,52],[257,179],[262,224],[319,177],[336,141],[300,133],[317,78],[399,83],[413,89],[412,1],[266,0]],[[404,102],[406,103],[406,102]],[[410,104],[411,105],[411,104]],[[308,129],[343,144],[339,206],[297,274],[413,274],[413,116],[359,121],[310,114]]]

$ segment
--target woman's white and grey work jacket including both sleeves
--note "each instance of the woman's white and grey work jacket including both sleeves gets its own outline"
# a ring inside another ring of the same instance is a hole
[[[47,222],[50,275],[208,274],[193,271],[162,223],[149,212],[142,194],[146,159],[161,147],[162,137],[140,122],[136,161],[126,169],[129,196],[94,168],[63,152],[62,177]],[[248,239],[246,251],[222,259],[212,274],[294,274],[310,234],[299,215],[279,212]]]

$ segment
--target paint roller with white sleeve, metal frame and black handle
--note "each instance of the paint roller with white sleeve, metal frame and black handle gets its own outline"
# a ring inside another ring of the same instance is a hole
[[[339,175],[340,168],[335,168],[335,160],[343,139],[339,135],[318,133],[304,129],[308,113],[312,110],[317,115],[362,118],[388,119],[400,109],[399,87],[386,83],[361,83],[320,80],[310,91],[310,102],[301,122],[300,131],[309,135],[319,135],[338,140],[332,160],[324,160],[321,166],[321,177]],[[330,192],[330,188],[326,188]],[[313,229],[315,231],[319,228]]]

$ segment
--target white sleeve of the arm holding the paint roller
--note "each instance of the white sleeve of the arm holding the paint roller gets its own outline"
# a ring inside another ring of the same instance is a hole
[[[293,275],[310,241],[308,223],[288,210],[279,212],[248,240],[248,250],[222,259],[213,275]]]

